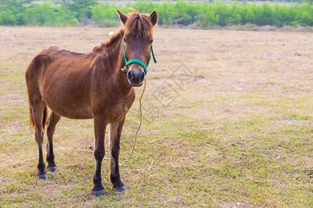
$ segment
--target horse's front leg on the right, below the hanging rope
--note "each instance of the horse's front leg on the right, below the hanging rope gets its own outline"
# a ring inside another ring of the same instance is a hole
[[[120,171],[118,168],[118,157],[120,155],[120,135],[125,122],[125,116],[118,122],[110,123],[110,155],[111,155],[111,174],[110,179],[113,184],[113,190],[124,192],[127,191],[125,185],[120,180]]]

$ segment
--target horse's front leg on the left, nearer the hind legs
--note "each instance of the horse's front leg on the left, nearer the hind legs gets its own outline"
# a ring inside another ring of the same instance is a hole
[[[106,119],[104,116],[95,116],[95,175],[93,176],[93,193],[95,196],[104,196],[104,187],[101,178],[101,163],[105,154],[104,150],[104,134],[106,132]]]

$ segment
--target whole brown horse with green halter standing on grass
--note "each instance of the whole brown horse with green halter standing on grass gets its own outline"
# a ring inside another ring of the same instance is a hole
[[[118,15],[122,21],[121,28],[93,51],[76,53],[49,46],[35,55],[25,74],[30,125],[31,129],[35,128],[35,141],[38,144],[38,177],[43,180],[48,178],[42,155],[46,123],[47,171],[54,172],[57,168],[52,137],[61,116],[94,119],[96,166],[93,193],[96,196],[105,195],[101,163],[108,124],[111,134],[110,179],[115,191],[126,191],[118,168],[120,136],[125,115],[135,99],[133,86],[141,86],[145,78],[143,66],[151,58],[153,28],[158,19],[157,12],[141,15],[134,10],[127,16],[118,10]],[[127,64],[127,58],[137,62]],[[48,107],[51,109],[49,119]]]

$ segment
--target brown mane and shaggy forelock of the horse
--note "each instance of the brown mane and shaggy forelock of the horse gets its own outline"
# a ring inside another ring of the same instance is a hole
[[[93,49],[96,53],[101,53],[104,50],[109,51],[115,46],[116,42],[124,36],[126,33],[136,34],[137,37],[148,37],[153,35],[153,26],[150,21],[150,16],[146,14],[139,14],[131,8],[133,12],[129,13],[127,15],[127,21],[125,25],[122,25],[118,32],[114,33],[114,35],[111,35],[106,42],[103,42],[102,44],[99,44],[98,46],[95,46]]]

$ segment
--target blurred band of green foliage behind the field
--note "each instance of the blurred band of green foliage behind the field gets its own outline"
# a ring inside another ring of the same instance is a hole
[[[124,6],[115,3],[99,3],[97,0],[67,0],[54,3],[33,4],[30,0],[2,0],[0,3],[0,24],[34,26],[72,26],[79,25],[84,18],[95,19],[99,26],[118,24],[116,10],[129,12],[129,7],[139,12],[159,14],[159,25],[197,24],[202,28],[256,24],[312,26],[312,0],[304,3],[257,5],[246,1],[234,1],[231,5],[219,1],[199,3],[196,1],[136,1]],[[49,1],[51,2],[51,1]]]

